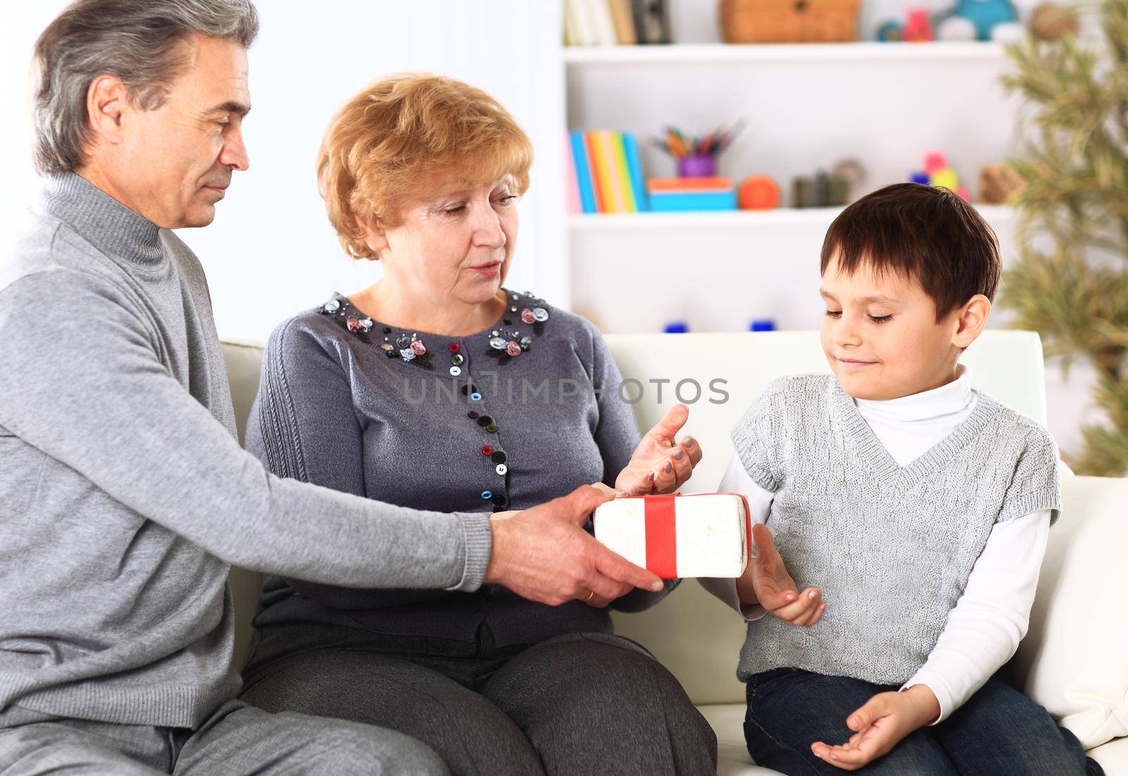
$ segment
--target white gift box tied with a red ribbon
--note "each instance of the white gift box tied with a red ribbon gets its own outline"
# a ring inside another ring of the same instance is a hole
[[[615,499],[594,522],[603,546],[667,580],[740,576],[751,555],[748,502],[735,493]]]

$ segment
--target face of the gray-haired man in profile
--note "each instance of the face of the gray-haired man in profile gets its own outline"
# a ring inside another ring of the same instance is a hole
[[[130,109],[118,156],[133,209],[159,227],[205,227],[232,170],[249,165],[243,117],[250,109],[247,53],[232,39],[193,36],[188,67],[155,111]]]

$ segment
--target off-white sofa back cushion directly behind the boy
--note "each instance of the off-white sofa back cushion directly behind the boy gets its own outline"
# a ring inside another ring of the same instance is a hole
[[[686,433],[697,438],[704,457],[682,488],[687,493],[716,488],[732,455],[732,426],[769,382],[784,374],[830,369],[818,332],[616,334],[606,338],[624,379],[637,380],[645,388],[634,405],[643,430],[677,400],[679,383],[684,383],[681,395],[687,403],[694,383],[700,386],[700,399],[688,404]],[[962,361],[971,370],[975,388],[1045,423],[1046,378],[1037,334],[984,332]],[[723,389],[726,400],[711,389],[713,385]],[[611,618],[616,633],[653,652],[694,703],[743,702],[737,659],[744,643],[744,623],[696,582],[686,581],[653,609],[613,612]]]

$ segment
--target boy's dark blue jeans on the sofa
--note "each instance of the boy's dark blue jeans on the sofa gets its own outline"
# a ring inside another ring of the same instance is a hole
[[[846,771],[816,757],[811,744],[844,743],[852,735],[849,713],[896,689],[791,668],[758,673],[748,681],[748,752],[757,765],[784,774],[841,776]],[[1089,766],[1089,774],[1102,773],[1092,760]],[[1079,776],[1086,760],[1073,733],[1058,728],[1045,708],[992,678],[942,723],[914,731],[857,773]]]

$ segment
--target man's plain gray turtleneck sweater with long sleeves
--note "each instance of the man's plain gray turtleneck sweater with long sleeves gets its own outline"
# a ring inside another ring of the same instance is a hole
[[[266,471],[192,252],[77,175],[0,256],[0,725],[196,726],[239,689],[228,564],[473,591],[488,514]]]

